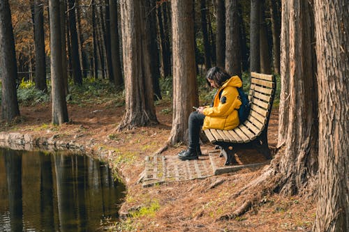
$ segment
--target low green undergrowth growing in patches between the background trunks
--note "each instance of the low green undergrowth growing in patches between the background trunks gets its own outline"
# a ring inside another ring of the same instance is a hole
[[[248,72],[242,74],[243,79],[243,88],[247,93],[250,88],[250,76]],[[215,89],[211,89],[206,82],[204,76],[198,75],[198,89],[199,89],[199,99],[200,105],[209,105],[211,100],[214,98],[216,93]],[[276,75],[276,97],[274,100],[274,105],[279,105],[280,101],[280,89],[281,89],[281,77]],[[31,80],[24,81],[18,85],[17,88],[17,98],[20,105],[38,105],[44,102],[50,102],[50,92],[51,84],[47,81],[47,91],[40,91],[35,88],[34,82]],[[160,88],[162,100],[158,100],[155,104],[159,102],[168,102],[172,101],[172,77],[161,78],[160,79]],[[1,91],[1,83],[0,83]],[[82,85],[74,85],[73,82],[69,83],[69,93],[66,97],[66,100],[70,104],[76,104],[83,106],[84,104],[94,103],[102,104],[107,103],[110,106],[122,106],[125,105],[125,91],[116,91],[114,85],[108,82],[106,79],[94,79],[89,77],[84,79]],[[0,95],[1,102],[1,95]],[[172,107],[170,105],[169,107]],[[171,109],[164,109],[163,114],[169,114]]]

